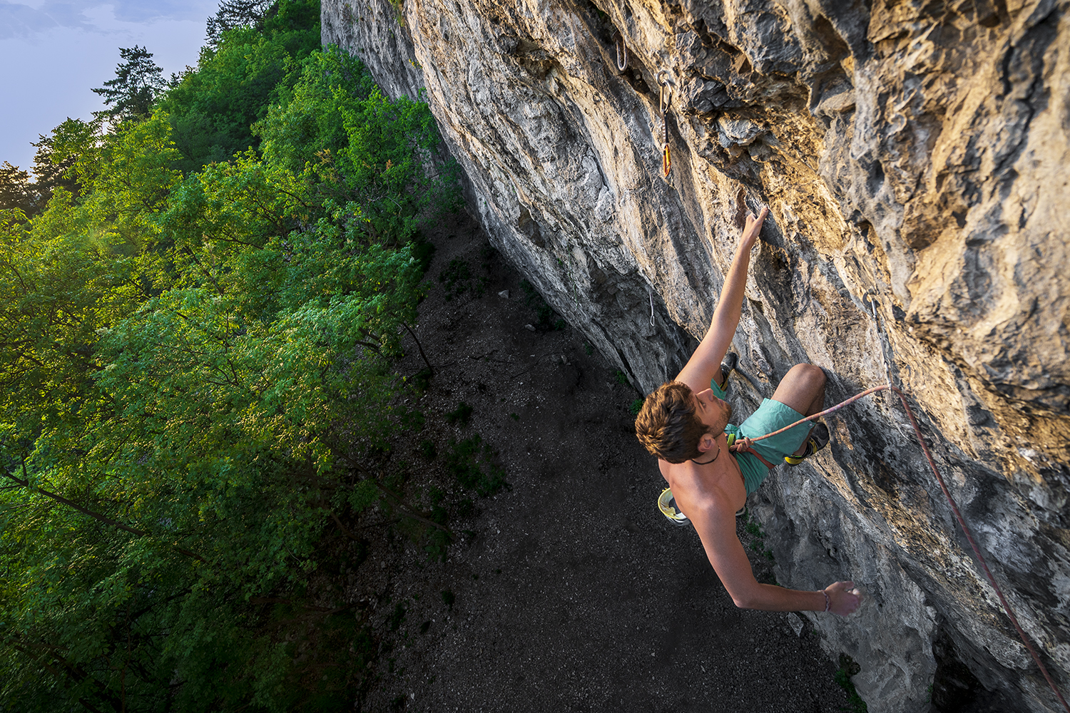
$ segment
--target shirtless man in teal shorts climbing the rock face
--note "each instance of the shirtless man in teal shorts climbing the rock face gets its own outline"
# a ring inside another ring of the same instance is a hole
[[[861,603],[853,582],[836,582],[823,590],[798,591],[763,585],[754,578],[736,537],[735,516],[747,496],[783,462],[797,465],[828,444],[824,423],[800,423],[771,438],[751,441],[816,414],[825,402],[825,374],[799,363],[784,375],[771,399],[765,399],[739,425],[729,423],[724,401],[729,373],[738,357],[728,354],[739,324],[750,250],[768,215],[748,214],[706,336],[672,382],[646,398],[636,419],[636,435],[658,456],[669,483],[658,499],[662,513],[683,525],[688,521],[702,540],[710,564],[736,606],[771,611],[852,614]]]

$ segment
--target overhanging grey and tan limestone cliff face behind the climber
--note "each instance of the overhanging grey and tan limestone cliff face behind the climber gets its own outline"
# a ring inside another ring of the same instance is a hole
[[[825,369],[829,403],[890,372],[1066,691],[1068,9],[324,0],[323,40],[391,94],[426,88],[491,239],[644,391],[704,332],[740,211],[767,204],[737,412],[797,361]],[[1056,710],[898,403],[827,420],[830,447],[778,468],[751,506],[781,584],[851,578],[870,594],[851,619],[813,617],[829,653],[861,665],[870,710],[929,710],[930,684],[959,710],[972,677],[1005,710]]]

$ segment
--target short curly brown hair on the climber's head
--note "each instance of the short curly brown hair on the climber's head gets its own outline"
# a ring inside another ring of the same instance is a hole
[[[667,382],[646,397],[636,417],[636,437],[651,453],[669,463],[698,458],[708,425],[694,413],[694,392],[683,382]]]

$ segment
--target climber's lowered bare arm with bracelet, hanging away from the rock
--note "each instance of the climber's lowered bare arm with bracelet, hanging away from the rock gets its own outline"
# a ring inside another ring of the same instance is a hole
[[[825,610],[825,595],[820,591],[784,589],[763,585],[754,579],[747,553],[735,533],[735,513],[731,508],[708,502],[704,508],[692,508],[692,511],[694,516],[691,522],[699,532],[709,563],[714,565],[717,576],[736,606],[766,611]],[[861,594],[854,586],[853,582],[837,582],[825,588],[830,611],[847,616],[858,608]]]

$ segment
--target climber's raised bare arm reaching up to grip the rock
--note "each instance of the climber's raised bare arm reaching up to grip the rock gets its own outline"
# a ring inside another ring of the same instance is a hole
[[[758,234],[762,231],[762,222],[767,215],[769,215],[769,208],[765,207],[762,208],[756,218],[752,213],[747,215],[747,224],[739,238],[739,247],[736,248],[732,266],[724,278],[724,286],[717,300],[717,308],[714,310],[714,319],[709,323],[709,329],[699,344],[699,348],[694,350],[687,366],[676,376],[676,381],[684,382],[694,391],[708,389],[709,379],[714,376],[720,382],[721,360],[724,358],[724,353],[729,351],[732,337],[739,324],[743,293],[747,285],[747,268],[750,266],[750,249],[754,247]]]

